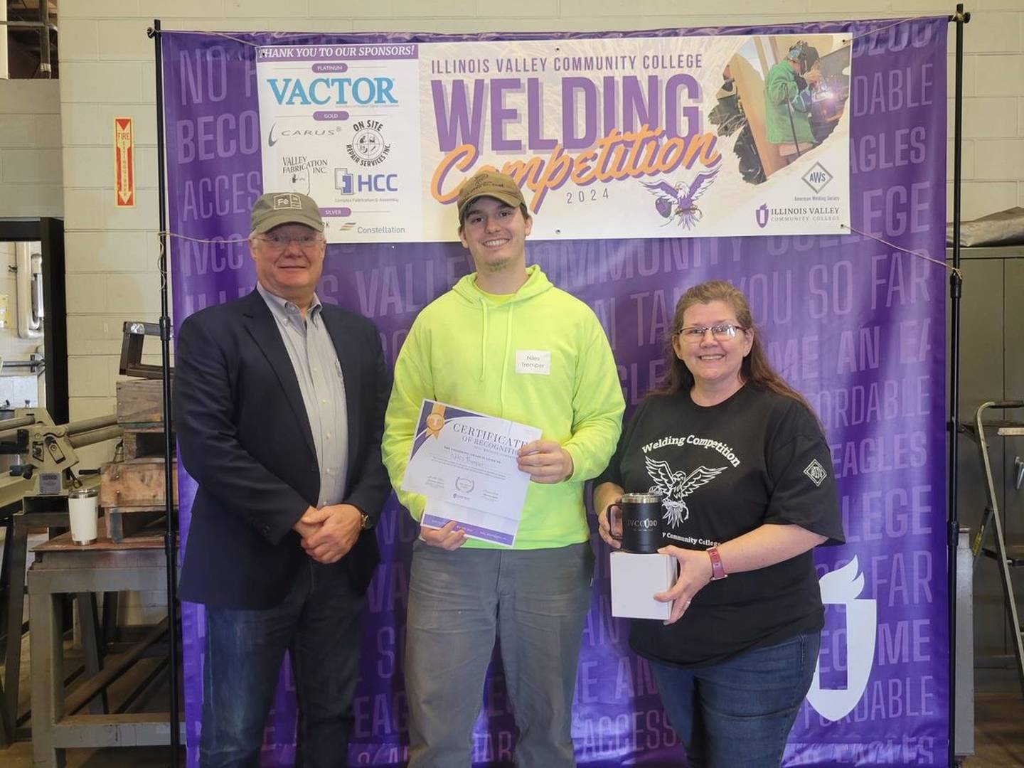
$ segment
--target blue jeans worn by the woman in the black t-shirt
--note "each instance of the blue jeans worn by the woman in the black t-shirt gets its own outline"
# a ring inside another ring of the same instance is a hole
[[[820,641],[821,633],[808,632],[711,667],[651,662],[691,768],[777,768]]]

